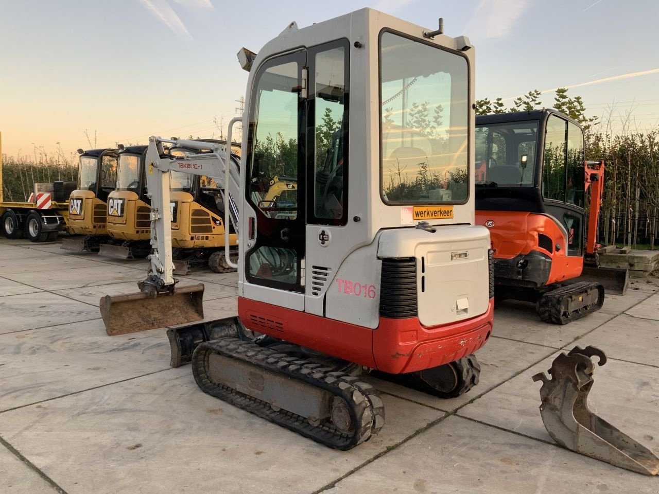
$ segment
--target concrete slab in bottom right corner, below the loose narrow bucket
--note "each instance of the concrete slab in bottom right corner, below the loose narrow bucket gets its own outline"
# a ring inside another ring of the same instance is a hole
[[[659,479],[449,416],[327,494],[656,493]]]

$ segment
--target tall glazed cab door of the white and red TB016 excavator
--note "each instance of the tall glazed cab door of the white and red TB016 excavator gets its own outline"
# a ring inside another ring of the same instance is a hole
[[[304,310],[306,96],[306,51],[274,57],[254,76],[241,218],[243,296],[296,310]],[[268,195],[283,178],[297,188]]]

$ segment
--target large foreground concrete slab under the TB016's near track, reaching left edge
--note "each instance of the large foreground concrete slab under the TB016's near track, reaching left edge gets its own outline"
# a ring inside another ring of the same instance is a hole
[[[306,494],[444,416],[383,398],[382,432],[345,453],[201,393],[190,366],[5,412],[0,435],[68,494]]]

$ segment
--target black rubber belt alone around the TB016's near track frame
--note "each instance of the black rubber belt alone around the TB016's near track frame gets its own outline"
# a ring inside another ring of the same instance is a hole
[[[275,411],[268,402],[214,383],[208,375],[208,358],[210,354],[214,353],[237,358],[263,370],[304,381],[343,398],[350,410],[352,423],[357,426],[353,427],[351,433],[339,431],[331,425],[331,422],[314,426],[305,417],[283,410],[283,408]],[[368,441],[384,425],[384,404],[372,385],[360,381],[358,377],[352,377],[331,368],[324,368],[320,364],[314,364],[308,360],[277,353],[276,350],[262,348],[250,341],[223,338],[199,344],[192,355],[192,373],[197,385],[204,393],[331,448],[343,451],[352,449],[360,443]]]

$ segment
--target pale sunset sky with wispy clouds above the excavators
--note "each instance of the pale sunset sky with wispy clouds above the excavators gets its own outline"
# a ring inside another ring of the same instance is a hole
[[[86,148],[86,129],[98,146],[211,136],[244,94],[239,48],[258,51],[292,20],[308,26],[360,7],[429,28],[442,16],[446,34],[469,36],[476,97],[594,82],[569,92],[588,113],[613,107],[615,121],[632,111],[641,130],[659,125],[653,0],[0,0],[3,152]]]

